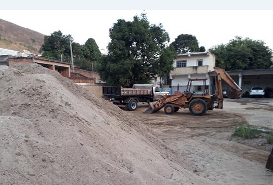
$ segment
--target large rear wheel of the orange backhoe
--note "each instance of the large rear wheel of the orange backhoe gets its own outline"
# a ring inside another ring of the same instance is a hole
[[[196,98],[190,102],[189,110],[193,116],[202,116],[204,113],[207,112],[208,105],[207,105],[206,101],[204,101],[200,98]]]

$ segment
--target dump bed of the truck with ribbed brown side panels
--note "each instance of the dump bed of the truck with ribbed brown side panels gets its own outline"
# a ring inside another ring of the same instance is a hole
[[[152,89],[134,89],[114,86],[103,86],[104,96],[149,96],[152,95]]]

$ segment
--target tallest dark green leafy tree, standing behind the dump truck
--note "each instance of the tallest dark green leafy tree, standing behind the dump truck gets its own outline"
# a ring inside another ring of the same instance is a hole
[[[134,16],[133,21],[119,19],[110,29],[110,38],[108,56],[99,65],[100,76],[109,85],[149,83],[153,76],[165,75],[161,70],[169,72],[162,66],[174,59],[168,54],[172,50],[167,50],[168,33],[162,24],[150,24],[146,14]]]

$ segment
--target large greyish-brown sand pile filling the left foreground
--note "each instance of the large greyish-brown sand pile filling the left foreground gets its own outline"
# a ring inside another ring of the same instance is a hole
[[[0,184],[207,184],[137,118],[38,64],[0,70],[0,150]]]

